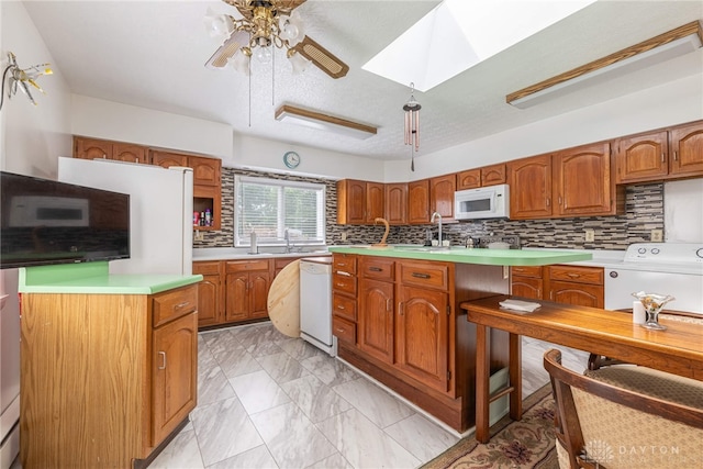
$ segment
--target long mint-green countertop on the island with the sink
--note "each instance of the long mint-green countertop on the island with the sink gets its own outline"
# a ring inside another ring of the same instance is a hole
[[[458,264],[479,264],[483,266],[546,266],[549,264],[590,260],[591,253],[565,253],[558,250],[523,249],[467,249],[438,247],[335,247],[331,253],[358,254],[361,256],[398,257],[403,259],[443,260]]]

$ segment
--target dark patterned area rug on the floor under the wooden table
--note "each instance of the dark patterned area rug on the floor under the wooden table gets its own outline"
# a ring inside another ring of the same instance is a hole
[[[491,426],[491,439],[481,444],[466,437],[423,466],[423,469],[489,469],[559,467],[555,448],[555,406],[547,384],[523,401],[523,418],[504,416]]]

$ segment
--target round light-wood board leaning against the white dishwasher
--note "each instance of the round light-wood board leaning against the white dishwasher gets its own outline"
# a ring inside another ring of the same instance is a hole
[[[267,306],[278,332],[300,337],[300,260],[293,260],[276,276],[268,290]]]

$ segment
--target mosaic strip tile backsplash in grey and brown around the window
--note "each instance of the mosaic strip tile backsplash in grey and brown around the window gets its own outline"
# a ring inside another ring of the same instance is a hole
[[[326,185],[327,244],[378,243],[382,225],[338,225],[336,181],[321,178],[276,175],[260,171],[222,168],[222,230],[203,232],[203,241],[193,247],[232,247],[234,245],[234,177],[244,175],[271,179],[294,179]],[[651,230],[663,230],[663,183],[628,186],[625,214],[554,220],[484,220],[447,223],[443,233],[453,245],[465,245],[467,238],[486,236],[520,236],[525,247],[625,249],[632,243],[649,241]],[[594,231],[593,243],[585,243],[584,230]],[[427,231],[436,236],[436,225],[391,226],[390,244],[424,244]],[[346,233],[346,241],[343,241]]]

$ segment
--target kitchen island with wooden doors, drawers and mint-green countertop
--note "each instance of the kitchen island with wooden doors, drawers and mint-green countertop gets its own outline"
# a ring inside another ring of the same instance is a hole
[[[457,433],[476,421],[476,325],[459,304],[510,293],[510,266],[591,259],[590,253],[421,246],[331,246],[338,357]],[[491,373],[510,364],[491,332]]]

